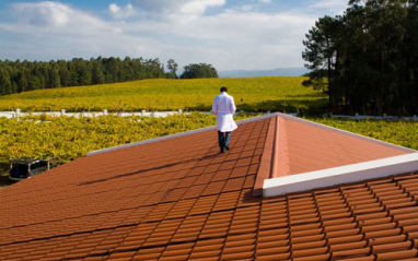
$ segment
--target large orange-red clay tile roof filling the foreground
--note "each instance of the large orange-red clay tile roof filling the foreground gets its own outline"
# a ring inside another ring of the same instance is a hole
[[[280,114],[239,123],[225,154],[206,128],[0,190],[0,260],[417,259],[414,151]],[[341,168],[362,179],[255,195]]]

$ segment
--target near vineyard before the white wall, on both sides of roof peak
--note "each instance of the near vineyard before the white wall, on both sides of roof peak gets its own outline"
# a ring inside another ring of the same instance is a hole
[[[235,120],[253,117],[244,114]],[[418,150],[418,122],[307,118],[310,120]],[[0,158],[54,157],[69,162],[86,153],[126,143],[169,135],[216,124],[213,115],[194,112],[166,118],[28,117],[0,118]]]

